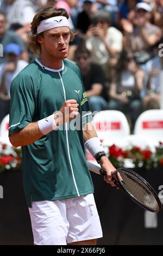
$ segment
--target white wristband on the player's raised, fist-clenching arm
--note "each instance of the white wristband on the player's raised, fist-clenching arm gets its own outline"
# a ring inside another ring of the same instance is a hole
[[[57,124],[54,120],[54,114],[49,115],[49,117],[43,118],[38,121],[38,126],[43,135],[47,135],[47,133],[58,128]]]

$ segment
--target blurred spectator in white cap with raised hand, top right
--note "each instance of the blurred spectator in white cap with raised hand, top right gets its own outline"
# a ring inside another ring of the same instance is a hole
[[[156,68],[161,70],[161,59],[158,54],[158,45],[162,36],[161,29],[150,22],[151,7],[147,3],[136,5],[137,26],[129,21],[123,20],[123,29],[126,33],[127,48],[134,53],[135,60],[145,70],[145,84],[141,92],[142,96],[146,94],[146,85],[148,75]],[[158,77],[153,78],[153,82],[159,82]],[[155,84],[158,87],[158,84]]]

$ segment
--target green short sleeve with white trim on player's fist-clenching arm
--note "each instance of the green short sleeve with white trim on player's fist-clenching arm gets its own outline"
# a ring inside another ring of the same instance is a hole
[[[10,88],[9,136],[32,123],[35,113],[35,97],[32,78],[18,75]]]

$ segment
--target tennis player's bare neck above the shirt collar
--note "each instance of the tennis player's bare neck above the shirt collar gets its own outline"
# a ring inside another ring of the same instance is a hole
[[[49,69],[60,69],[62,67],[62,59],[56,59],[52,56],[45,56],[40,54],[39,61],[43,66]]]

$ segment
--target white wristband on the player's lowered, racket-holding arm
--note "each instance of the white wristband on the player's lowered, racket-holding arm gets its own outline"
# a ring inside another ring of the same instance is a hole
[[[101,141],[98,137],[93,137],[85,142],[85,148],[90,151],[93,157],[99,152],[104,151]]]

